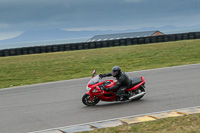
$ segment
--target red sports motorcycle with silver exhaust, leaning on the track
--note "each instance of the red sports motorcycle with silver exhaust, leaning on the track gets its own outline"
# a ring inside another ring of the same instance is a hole
[[[82,97],[83,104],[87,106],[94,106],[100,100],[108,102],[118,101],[118,99],[116,98],[116,93],[118,89],[109,92],[104,91],[104,88],[110,88],[114,86],[117,83],[117,80],[107,79],[105,81],[102,81],[102,78],[99,75],[95,76],[95,74],[96,70],[93,71],[92,79],[88,82],[86,86],[88,92],[86,92]],[[127,100],[133,101],[141,99],[146,94],[144,89],[144,77],[131,78],[130,80],[132,81],[131,88],[124,91],[124,93],[129,94]]]

